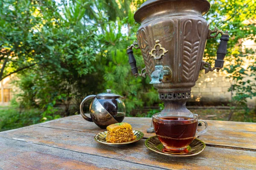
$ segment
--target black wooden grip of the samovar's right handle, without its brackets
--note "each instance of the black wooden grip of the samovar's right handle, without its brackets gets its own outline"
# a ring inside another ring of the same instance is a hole
[[[227,54],[227,42],[229,40],[229,35],[221,35],[221,43],[217,50],[217,59],[215,59],[215,67],[223,68],[224,57]]]

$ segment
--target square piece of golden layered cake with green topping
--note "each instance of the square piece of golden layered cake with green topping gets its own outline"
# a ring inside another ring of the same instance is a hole
[[[132,127],[128,123],[116,123],[107,127],[107,142],[120,143],[130,142],[136,139],[132,131]]]

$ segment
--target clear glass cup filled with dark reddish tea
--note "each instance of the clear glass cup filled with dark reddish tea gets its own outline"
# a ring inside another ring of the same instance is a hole
[[[152,116],[154,130],[165,151],[185,150],[198,136],[207,132],[207,122],[198,120],[198,116],[186,112],[161,112]],[[198,123],[204,124],[204,130],[197,132]]]

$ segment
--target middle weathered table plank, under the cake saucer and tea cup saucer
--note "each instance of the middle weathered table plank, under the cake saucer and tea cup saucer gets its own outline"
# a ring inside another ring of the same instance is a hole
[[[27,127],[0,133],[0,136],[26,142],[89,153],[97,156],[169,169],[254,169],[256,152],[207,147],[195,157],[170,158],[148,150],[145,140],[124,147],[110,147],[94,141],[95,133],[47,127]]]

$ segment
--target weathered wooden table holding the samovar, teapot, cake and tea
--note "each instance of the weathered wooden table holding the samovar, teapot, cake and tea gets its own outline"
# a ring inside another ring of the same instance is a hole
[[[209,130],[199,139],[207,144],[194,157],[171,158],[145,147],[150,118],[128,122],[144,139],[124,147],[94,141],[104,131],[80,115],[56,119],[0,133],[0,169],[256,169],[256,123],[207,121]]]

